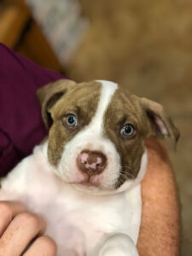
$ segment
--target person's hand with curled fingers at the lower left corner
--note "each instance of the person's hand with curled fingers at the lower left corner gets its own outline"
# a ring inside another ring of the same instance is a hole
[[[55,241],[44,236],[45,228],[44,218],[20,202],[0,201],[0,256],[55,256]]]

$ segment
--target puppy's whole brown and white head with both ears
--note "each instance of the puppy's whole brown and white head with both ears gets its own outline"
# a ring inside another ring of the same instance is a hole
[[[81,189],[129,188],[146,169],[144,139],[178,137],[160,104],[112,82],[60,80],[38,90],[38,98],[50,126],[49,163],[66,183]]]

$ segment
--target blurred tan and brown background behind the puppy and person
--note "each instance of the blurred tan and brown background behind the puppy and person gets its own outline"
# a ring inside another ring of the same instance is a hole
[[[191,256],[192,0],[0,0],[0,42],[77,82],[109,79],[164,105],[181,131],[177,150],[166,146]]]

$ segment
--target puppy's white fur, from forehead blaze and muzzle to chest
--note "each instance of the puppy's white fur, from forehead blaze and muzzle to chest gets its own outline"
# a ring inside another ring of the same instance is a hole
[[[49,165],[46,142],[34,148],[33,154],[3,180],[0,200],[20,200],[29,210],[42,214],[48,223],[46,234],[58,245],[58,256],[137,255],[142,211],[140,181],[146,171],[147,153],[143,154],[137,178],[110,191],[118,177],[119,154],[113,143],[102,137],[102,119],[116,88],[116,84],[102,81],[96,115],[67,143],[59,170],[53,172]],[[86,147],[102,150],[108,156],[108,169],[100,177],[101,193],[96,188],[88,193],[83,185],[69,183],[84,178],[77,172],[75,159]]]

